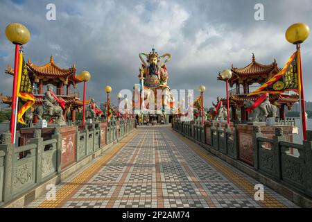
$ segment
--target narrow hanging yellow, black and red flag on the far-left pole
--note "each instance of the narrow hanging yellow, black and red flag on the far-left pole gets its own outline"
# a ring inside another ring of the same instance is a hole
[[[33,86],[28,76],[26,62],[23,58],[23,52],[19,53],[19,71],[17,78],[17,96],[21,108],[17,112],[17,121],[21,124],[26,124],[24,121],[25,112],[35,103],[35,96],[33,95]]]

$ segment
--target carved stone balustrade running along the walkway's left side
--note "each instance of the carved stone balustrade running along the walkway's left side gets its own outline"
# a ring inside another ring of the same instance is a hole
[[[103,146],[116,144],[135,128],[134,120],[55,128],[28,128],[19,144],[10,144],[10,133],[0,142],[0,205],[62,173]]]

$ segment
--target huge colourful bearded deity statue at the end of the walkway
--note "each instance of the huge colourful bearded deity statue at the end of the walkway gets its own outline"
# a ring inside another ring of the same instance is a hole
[[[146,61],[142,56],[146,56]],[[153,49],[150,53],[139,53],[139,58],[142,62],[139,78],[144,81],[144,100],[148,103],[146,108],[151,109],[152,104],[155,109],[162,107],[162,112],[164,108],[172,108],[173,96],[167,85],[168,71],[165,65],[171,60],[171,54],[165,53],[163,56],[158,56]],[[161,62],[164,58],[166,59]],[[159,62],[161,62],[160,65]]]

